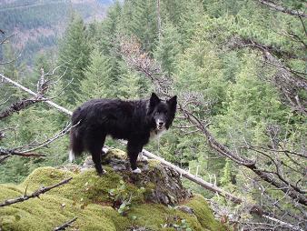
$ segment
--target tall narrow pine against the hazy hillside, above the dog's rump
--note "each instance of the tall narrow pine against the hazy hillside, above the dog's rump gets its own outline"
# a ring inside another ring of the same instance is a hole
[[[59,48],[59,65],[64,65],[63,72],[67,67],[63,85],[65,102],[69,105],[75,104],[80,81],[84,79],[84,70],[89,64],[90,46],[86,40],[84,28],[81,16],[73,14]]]

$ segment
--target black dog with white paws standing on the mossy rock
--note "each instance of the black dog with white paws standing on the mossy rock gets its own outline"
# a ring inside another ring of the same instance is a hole
[[[134,173],[141,173],[136,159],[150,138],[159,136],[173,123],[177,96],[167,101],[154,93],[148,100],[123,101],[94,99],[78,107],[72,116],[69,159],[84,150],[92,154],[99,175],[104,174],[101,163],[105,136],[128,141],[127,152]]]

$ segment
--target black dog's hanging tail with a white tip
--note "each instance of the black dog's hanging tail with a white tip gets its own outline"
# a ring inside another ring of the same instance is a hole
[[[70,130],[70,151],[69,161],[72,163],[76,156],[80,156],[84,151],[82,135],[80,134],[81,119],[78,118],[77,112],[72,116],[72,129]]]

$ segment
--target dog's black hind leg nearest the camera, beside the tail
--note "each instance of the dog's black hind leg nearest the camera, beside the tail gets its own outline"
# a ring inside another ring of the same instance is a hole
[[[87,149],[92,155],[92,159],[94,162],[94,167],[97,171],[97,174],[102,176],[105,173],[105,170],[102,166],[102,148],[104,146],[105,136],[101,138],[97,138],[97,136],[87,137]]]

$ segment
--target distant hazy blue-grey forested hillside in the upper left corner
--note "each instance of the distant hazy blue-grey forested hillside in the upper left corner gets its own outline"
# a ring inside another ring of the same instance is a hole
[[[58,38],[63,34],[73,10],[79,12],[86,22],[101,20],[111,3],[109,0],[1,1],[0,28],[6,34],[14,35],[12,49],[15,54],[21,54],[18,62],[32,66],[37,53],[46,50],[56,52]],[[1,49],[0,56],[3,55],[7,55],[7,51]]]

